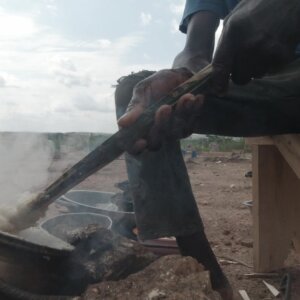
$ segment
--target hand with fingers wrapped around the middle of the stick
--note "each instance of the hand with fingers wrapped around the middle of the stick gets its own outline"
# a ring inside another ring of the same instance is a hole
[[[118,120],[120,127],[133,124],[145,108],[192,76],[185,68],[161,70],[138,83],[133,90],[127,113]],[[175,107],[163,105],[155,114],[154,126],[149,134],[136,142],[131,153],[138,153],[144,148],[156,150],[167,138],[178,139],[192,133],[196,112],[201,109],[203,97],[192,94],[183,95]]]

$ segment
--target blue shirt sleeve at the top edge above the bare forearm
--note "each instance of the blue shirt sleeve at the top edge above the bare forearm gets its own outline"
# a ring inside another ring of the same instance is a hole
[[[186,0],[179,30],[186,33],[191,16],[199,11],[210,11],[224,19],[238,3],[239,0]],[[300,56],[300,45],[296,55]]]

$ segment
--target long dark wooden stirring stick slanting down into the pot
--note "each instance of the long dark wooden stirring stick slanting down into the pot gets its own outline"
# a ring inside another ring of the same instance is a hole
[[[27,228],[28,223],[35,223],[33,219],[37,218],[39,211],[45,211],[48,205],[61,195],[65,194],[91,174],[108,165],[118,158],[126,149],[133,146],[138,139],[144,137],[153,125],[154,115],[159,107],[165,104],[174,105],[179,98],[186,93],[197,94],[203,92],[208,86],[211,72],[212,67],[208,65],[175,88],[170,94],[149,106],[134,124],[128,128],[122,128],[117,131],[49,185],[43,193],[39,194],[33,201],[30,201],[24,206],[24,209],[19,212],[18,216],[14,216],[11,223],[17,225],[16,227],[18,228]],[[30,216],[33,217],[32,220]],[[24,218],[27,219],[27,221],[25,221]]]

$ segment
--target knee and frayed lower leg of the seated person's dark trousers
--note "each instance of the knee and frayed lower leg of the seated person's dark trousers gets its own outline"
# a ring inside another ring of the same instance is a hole
[[[119,80],[117,118],[126,111],[133,87],[153,72],[142,71]],[[179,141],[165,142],[156,152],[126,154],[139,238],[184,236],[203,230]]]

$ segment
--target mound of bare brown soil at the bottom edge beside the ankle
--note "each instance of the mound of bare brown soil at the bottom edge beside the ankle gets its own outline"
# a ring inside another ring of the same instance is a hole
[[[159,258],[125,280],[89,286],[82,300],[219,300],[212,291],[209,274],[191,257]]]

